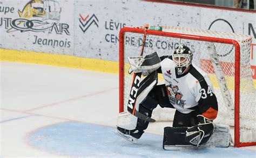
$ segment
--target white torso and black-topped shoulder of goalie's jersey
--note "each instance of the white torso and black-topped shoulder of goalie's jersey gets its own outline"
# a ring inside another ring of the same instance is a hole
[[[214,95],[208,75],[199,67],[191,65],[188,73],[178,75],[170,58],[165,58],[160,65],[169,101],[179,112],[190,113],[201,98],[206,99],[206,93]]]

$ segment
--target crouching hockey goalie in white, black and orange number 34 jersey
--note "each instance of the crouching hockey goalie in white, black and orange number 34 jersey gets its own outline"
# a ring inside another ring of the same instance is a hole
[[[213,123],[218,102],[211,81],[192,59],[185,45],[179,45],[171,56],[159,58],[155,52],[130,57],[133,83],[127,112],[118,116],[116,134],[138,143],[149,122],[154,122],[151,114],[159,105],[176,109],[172,127],[164,128],[164,149],[228,147],[229,127]],[[165,84],[157,84],[158,73],[163,74]],[[141,80],[141,75],[146,77]]]

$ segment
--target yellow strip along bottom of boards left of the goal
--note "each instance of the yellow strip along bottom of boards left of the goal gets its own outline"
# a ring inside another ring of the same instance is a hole
[[[81,58],[64,54],[51,54],[18,50],[0,49],[0,61],[44,64],[85,70],[118,73],[118,62],[100,59]]]

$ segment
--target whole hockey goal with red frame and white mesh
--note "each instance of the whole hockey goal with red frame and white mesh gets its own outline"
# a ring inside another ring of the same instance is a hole
[[[123,28],[120,31],[120,112],[126,111],[132,85],[127,57],[139,56],[144,31],[143,27]],[[214,122],[234,126],[235,146],[250,146],[256,145],[256,91],[250,68],[251,43],[250,36],[238,33],[151,26],[147,30],[143,56],[153,52],[157,52],[159,57],[171,55],[179,44],[190,47],[193,52],[192,63],[208,73],[213,84],[219,105],[218,116]],[[207,49],[211,44],[217,53],[217,61],[213,61],[211,52]],[[216,70],[215,66],[219,66],[220,70]],[[158,80],[158,84],[164,84],[161,75]],[[173,116],[174,109],[159,106],[152,113],[152,118],[157,121],[173,120]]]

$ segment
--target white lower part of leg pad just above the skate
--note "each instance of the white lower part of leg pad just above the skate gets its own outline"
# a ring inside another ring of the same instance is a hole
[[[122,112],[118,115],[117,126],[128,130],[133,130],[137,126],[137,120],[138,118],[129,112]]]

